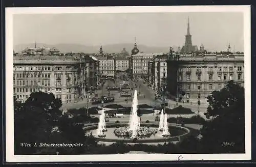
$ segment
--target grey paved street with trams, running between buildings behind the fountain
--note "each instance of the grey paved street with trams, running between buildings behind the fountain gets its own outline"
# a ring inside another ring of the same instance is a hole
[[[155,107],[156,105],[159,106],[162,103],[161,99],[157,99],[155,100],[155,91],[153,89],[151,89],[150,87],[147,87],[146,84],[143,84],[143,80],[140,79],[138,81],[133,81],[133,80],[129,80],[129,81],[123,81],[122,76],[123,73],[120,73],[119,75],[117,75],[117,79],[115,81],[111,81],[111,80],[106,80],[103,89],[101,90],[96,90],[95,93],[98,94],[98,97],[100,96],[111,96],[115,98],[114,102],[110,102],[110,103],[105,103],[103,105],[107,105],[107,104],[120,104],[123,106],[131,106],[132,105],[132,98],[133,97],[121,97],[120,96],[120,92],[118,92],[117,90],[111,90],[109,91],[108,89],[106,89],[108,86],[109,87],[113,87],[113,86],[117,86],[117,87],[121,87],[122,84],[126,83],[126,84],[130,84],[130,86],[133,88],[133,93],[135,90],[137,90],[137,95],[138,95],[138,104],[148,104],[151,105],[153,107]],[[136,88],[137,86],[137,88]],[[125,99],[127,99],[127,101],[125,101]],[[167,99],[166,102],[168,103],[168,108],[174,108],[177,107],[176,101]],[[70,108],[80,108],[80,107],[93,107],[93,106],[102,106],[102,104],[92,104],[92,102],[90,101],[90,99],[88,100],[87,103],[87,99],[85,98],[83,101],[79,101],[77,103],[70,103],[70,104],[63,104],[62,108],[65,109],[70,109]],[[190,108],[193,112],[197,113],[198,112],[198,105],[197,104],[190,104],[190,103],[178,103],[178,105],[182,105],[183,107],[187,107]],[[200,105],[200,115],[203,116],[203,113],[206,112],[207,109],[207,105]]]

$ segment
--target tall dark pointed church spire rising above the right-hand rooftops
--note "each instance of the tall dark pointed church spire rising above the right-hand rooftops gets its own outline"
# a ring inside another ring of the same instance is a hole
[[[187,34],[185,36],[185,45],[181,48],[181,53],[191,53],[198,51],[196,45],[192,45],[192,36],[190,35],[189,18],[187,19]]]

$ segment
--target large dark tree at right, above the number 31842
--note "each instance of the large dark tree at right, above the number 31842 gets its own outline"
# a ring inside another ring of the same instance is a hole
[[[207,97],[205,116],[214,118],[201,129],[205,152],[242,153],[245,151],[244,88],[231,80],[225,88]]]

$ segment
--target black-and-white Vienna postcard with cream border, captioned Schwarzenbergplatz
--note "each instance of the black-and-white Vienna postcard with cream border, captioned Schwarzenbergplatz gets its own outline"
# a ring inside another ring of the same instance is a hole
[[[5,56],[7,162],[251,159],[250,6],[6,8]]]

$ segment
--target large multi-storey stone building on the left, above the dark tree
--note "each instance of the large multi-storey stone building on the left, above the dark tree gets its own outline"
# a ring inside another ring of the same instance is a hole
[[[41,91],[53,93],[62,103],[73,103],[98,82],[98,61],[89,56],[13,56],[13,92],[18,101],[25,102],[32,92]]]

